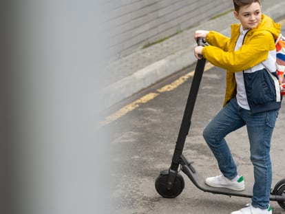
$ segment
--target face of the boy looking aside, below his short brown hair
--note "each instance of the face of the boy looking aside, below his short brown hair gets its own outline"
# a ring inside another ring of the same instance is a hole
[[[244,30],[256,28],[257,25],[260,24],[262,17],[261,6],[258,2],[253,2],[249,6],[241,6],[238,13],[236,11],[233,13],[235,15],[235,18],[240,20],[240,23],[242,24]]]

